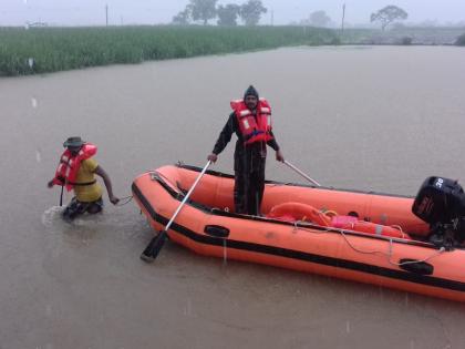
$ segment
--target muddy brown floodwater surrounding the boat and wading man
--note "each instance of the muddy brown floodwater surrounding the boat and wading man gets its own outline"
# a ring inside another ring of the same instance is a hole
[[[203,166],[250,83],[287,160],[324,185],[465,183],[464,62],[452,47],[294,48],[0,79],[0,348],[464,348],[464,305],[170,243],[146,265],[134,203],[69,225],[45,187],[69,135],[99,145],[121,197],[144,171]],[[214,170],[231,172],[232,148]],[[304,182],[272,156],[267,177]]]

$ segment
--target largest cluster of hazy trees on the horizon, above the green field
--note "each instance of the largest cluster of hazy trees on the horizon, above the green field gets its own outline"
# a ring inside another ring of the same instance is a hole
[[[260,0],[248,0],[244,4],[227,3],[217,6],[218,0],[190,0],[186,8],[173,17],[173,24],[187,25],[197,21],[205,24],[217,19],[218,25],[257,25],[261,14],[267,12]]]

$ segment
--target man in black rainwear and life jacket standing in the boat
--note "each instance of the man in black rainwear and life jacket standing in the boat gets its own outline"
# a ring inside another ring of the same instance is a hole
[[[232,113],[219,134],[208,160],[216,162],[231,140],[237,135],[234,154],[234,204],[239,214],[260,215],[265,191],[265,164],[267,144],[276,151],[276,160],[283,162],[279,145],[271,130],[271,107],[268,101],[259,99],[257,90],[250,85],[242,100],[230,102]]]

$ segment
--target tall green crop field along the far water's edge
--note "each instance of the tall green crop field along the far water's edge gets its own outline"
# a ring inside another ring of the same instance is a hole
[[[0,75],[333,43],[334,31],[302,27],[0,28]]]

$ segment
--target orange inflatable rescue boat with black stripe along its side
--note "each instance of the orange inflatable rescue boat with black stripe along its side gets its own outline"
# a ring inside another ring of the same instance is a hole
[[[202,168],[138,176],[134,198],[163,230]],[[414,198],[267,182],[264,216],[234,213],[234,177],[207,171],[167,235],[195,253],[465,301],[465,250],[426,242]]]

